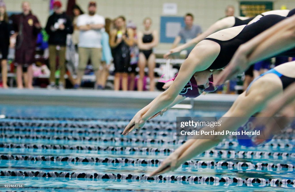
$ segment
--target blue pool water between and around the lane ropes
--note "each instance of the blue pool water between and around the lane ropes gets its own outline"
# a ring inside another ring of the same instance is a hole
[[[19,105],[1,105],[0,115],[13,117],[64,117],[64,118],[81,118],[80,121],[70,120],[15,120],[15,119],[0,119],[2,122],[53,122],[53,123],[90,123],[90,124],[116,124],[124,126],[128,122],[100,122],[96,120],[85,121],[83,118],[97,119],[131,119],[139,109],[136,108],[81,108],[71,106],[19,106]],[[203,112],[197,110],[180,110],[170,109],[162,117],[157,117],[159,121],[176,121],[177,116],[222,116],[225,111]],[[28,127],[30,128],[30,127]],[[32,128],[38,129],[38,128]],[[61,128],[63,129],[63,128]],[[84,130],[81,128],[81,130]],[[122,130],[123,131],[123,130]],[[0,134],[6,135],[30,135],[34,132],[17,132],[17,131],[2,131]],[[53,132],[39,132],[39,135],[52,136]],[[76,136],[91,136],[84,133],[76,134]],[[71,136],[69,133],[63,136]],[[93,135],[98,136],[98,135]],[[112,135],[104,135],[109,138]],[[118,133],[116,137],[121,137]],[[132,133],[127,138],[135,137]],[[137,135],[138,138],[147,139],[146,136]],[[156,138],[155,136],[151,138]],[[171,136],[159,136],[158,138],[171,140]],[[276,142],[276,141],[273,141]],[[291,141],[290,141],[291,142]],[[121,146],[121,147],[154,147],[154,148],[173,148],[176,149],[179,144],[135,144],[135,143],[111,143],[111,142],[96,142],[96,141],[74,141],[74,140],[46,140],[46,139],[16,139],[2,138],[1,143],[12,144],[57,144],[57,145],[94,145],[100,147]],[[219,149],[218,147],[216,149]],[[223,148],[222,148],[223,149]],[[285,149],[272,148],[245,148],[235,147],[226,148],[224,150],[235,151],[270,151],[280,152]],[[286,149],[288,153],[294,153],[294,149]],[[163,160],[168,153],[144,153],[144,152],[127,152],[127,151],[89,151],[89,150],[69,150],[69,149],[24,149],[24,148],[1,148],[1,155],[24,155],[24,156],[71,156],[71,157],[103,157],[103,158],[133,158],[133,159],[158,159]],[[295,165],[293,157],[220,157],[220,156],[197,156],[194,160],[201,161],[231,161],[231,162],[252,162],[253,164],[273,163],[276,164],[291,164]],[[158,165],[141,165],[141,164],[125,164],[125,163],[95,163],[95,162],[60,162],[60,161],[27,161],[27,160],[0,160],[0,170],[11,171],[35,171],[42,170],[46,172],[83,172],[83,173],[114,173],[114,174],[135,174],[143,175],[151,173]],[[203,177],[230,177],[230,178],[265,178],[278,180],[295,179],[294,168],[264,168],[256,169],[255,167],[244,168],[228,168],[228,167],[211,167],[211,166],[181,166],[177,170],[168,173],[167,175],[196,175]],[[219,182],[203,182],[196,183],[192,181],[150,181],[150,180],[118,180],[118,179],[82,179],[82,178],[37,178],[37,177],[14,177],[0,176],[0,184],[23,183],[22,189],[7,189],[0,187],[0,191],[22,190],[22,191],[294,191],[294,185],[263,185],[258,183],[219,183]]]

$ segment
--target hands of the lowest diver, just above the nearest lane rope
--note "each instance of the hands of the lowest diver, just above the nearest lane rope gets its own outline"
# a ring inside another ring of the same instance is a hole
[[[176,170],[181,165],[181,162],[178,162],[178,157],[179,154],[177,152],[173,152],[171,155],[167,157],[167,159],[163,161],[163,163],[160,165],[160,167],[158,167],[158,169],[156,169],[155,171],[153,171],[153,173],[150,174],[150,177]]]

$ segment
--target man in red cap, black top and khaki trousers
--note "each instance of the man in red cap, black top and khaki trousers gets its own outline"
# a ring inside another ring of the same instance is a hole
[[[56,57],[58,56],[60,68],[58,88],[62,90],[65,86],[65,45],[67,35],[73,33],[73,25],[61,7],[60,1],[53,2],[54,12],[48,18],[45,30],[49,35],[50,84],[47,88],[55,88]]]

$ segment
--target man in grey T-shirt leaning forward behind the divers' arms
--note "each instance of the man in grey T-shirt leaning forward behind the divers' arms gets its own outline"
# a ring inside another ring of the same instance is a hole
[[[201,26],[194,25],[194,15],[187,13],[184,17],[185,27],[180,30],[178,36],[176,36],[172,48],[176,48],[178,43],[183,40],[185,43],[189,42],[191,39],[195,38],[202,33]],[[187,50],[187,56],[193,48]]]

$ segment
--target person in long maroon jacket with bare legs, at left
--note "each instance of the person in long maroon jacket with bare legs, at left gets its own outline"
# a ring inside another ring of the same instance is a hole
[[[15,64],[17,65],[17,87],[23,88],[22,72],[27,71],[25,77],[26,88],[33,89],[33,68],[37,35],[41,30],[40,23],[31,12],[29,2],[22,3],[23,12],[13,18],[13,28],[17,35],[15,45]]]

